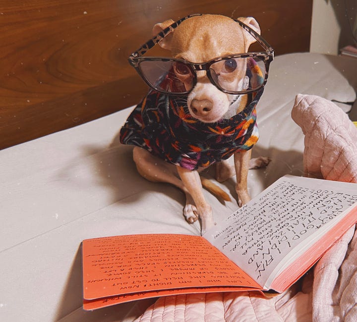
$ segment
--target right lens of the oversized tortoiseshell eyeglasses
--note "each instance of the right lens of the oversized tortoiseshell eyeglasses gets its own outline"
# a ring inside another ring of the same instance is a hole
[[[232,93],[257,90],[264,83],[265,64],[258,57],[224,58],[210,66],[216,85]]]

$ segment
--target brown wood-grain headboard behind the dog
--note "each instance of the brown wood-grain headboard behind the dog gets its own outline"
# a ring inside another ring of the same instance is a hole
[[[138,103],[147,88],[127,56],[157,22],[253,16],[285,54],[309,50],[311,11],[312,0],[3,0],[0,149]]]

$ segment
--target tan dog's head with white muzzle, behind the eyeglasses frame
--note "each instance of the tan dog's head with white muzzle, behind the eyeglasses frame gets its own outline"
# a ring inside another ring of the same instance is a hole
[[[238,18],[241,22],[260,34],[257,21],[252,18]],[[153,28],[157,34],[174,23],[167,20]],[[174,58],[192,63],[204,63],[213,58],[232,54],[247,53],[249,46],[255,42],[233,19],[221,15],[194,16],[183,21],[171,34],[161,40],[160,46],[170,50]],[[192,79],[184,65],[176,64],[176,77],[184,84],[186,90],[192,86]],[[211,77],[219,77],[222,88],[229,92],[246,89],[246,60],[224,59],[210,65]],[[228,115],[233,116],[245,104],[242,96],[227,94],[212,84],[205,70],[197,70],[197,83],[187,97],[187,106],[191,115],[202,122],[216,122]],[[246,97],[245,97],[246,99]],[[235,110],[230,111],[235,102]],[[232,115],[233,114],[233,115]]]

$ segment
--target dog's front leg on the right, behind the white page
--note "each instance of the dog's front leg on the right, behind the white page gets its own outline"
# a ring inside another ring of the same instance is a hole
[[[236,191],[238,194],[239,207],[246,204],[250,200],[247,183],[250,157],[251,149],[234,154],[237,175]]]

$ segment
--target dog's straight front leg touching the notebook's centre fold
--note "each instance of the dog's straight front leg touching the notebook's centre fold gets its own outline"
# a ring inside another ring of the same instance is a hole
[[[196,205],[199,217],[202,220],[201,233],[214,226],[213,213],[211,206],[207,203],[202,189],[201,179],[197,171],[191,171],[177,166],[179,176],[187,189],[188,193]]]

